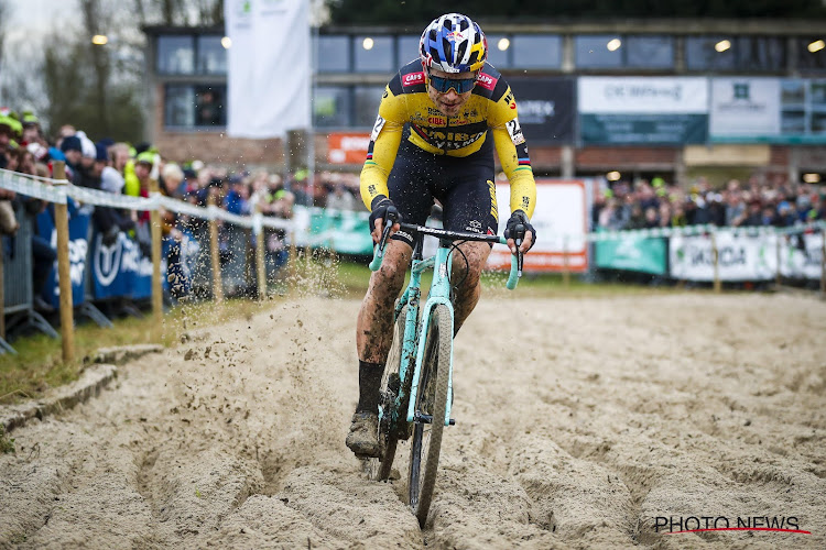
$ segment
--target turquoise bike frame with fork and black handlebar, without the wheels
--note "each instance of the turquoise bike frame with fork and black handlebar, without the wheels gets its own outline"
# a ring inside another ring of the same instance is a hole
[[[390,220],[388,220],[390,221]],[[376,246],[373,260],[370,262],[370,270],[377,271],[381,267],[381,262],[384,256],[384,245],[389,235],[389,228],[392,223],[388,223],[382,239],[379,245]],[[427,341],[427,331],[431,324],[431,314],[434,308],[443,304],[447,307],[450,312],[450,330],[454,329],[454,309],[453,301],[450,300],[450,274],[453,272],[452,254],[456,248],[455,241],[475,241],[475,242],[488,242],[488,243],[500,243],[508,244],[508,241],[499,235],[488,235],[480,233],[460,232],[460,231],[447,231],[438,228],[431,228],[426,226],[415,226],[410,223],[400,223],[401,229],[414,235],[413,256],[411,261],[411,275],[407,287],[404,289],[404,294],[399,299],[395,306],[395,312],[393,321],[399,318],[402,308],[407,306],[407,315],[404,324],[404,339],[402,340],[402,354],[401,364],[399,365],[399,377],[404,381],[407,369],[411,365],[414,366],[413,378],[411,381],[410,393],[407,394],[404,384],[400,388],[400,393],[395,396],[393,406],[390,407],[391,417],[390,429],[394,430],[399,426],[400,413],[407,402],[407,414],[405,417],[406,422],[431,422],[432,418],[424,418],[421,415],[417,416],[415,410],[415,399],[409,399],[409,396],[416,395],[419,391],[419,382],[422,376],[422,363],[425,355],[425,342]],[[432,235],[439,239],[439,246],[436,250],[436,255],[424,258],[422,255],[423,242],[425,235]],[[517,240],[517,246],[521,243],[521,239]],[[433,282],[431,283],[430,292],[427,293],[427,300],[424,304],[422,310],[421,324],[419,322],[419,310],[422,296],[422,273],[426,270],[433,268]],[[507,287],[514,289],[519,277],[522,276],[522,255],[511,256],[511,271],[508,277]],[[415,360],[415,363],[413,361]],[[454,424],[450,420],[450,406],[453,404],[453,345],[450,346],[450,369],[448,371],[448,384],[447,384],[447,407],[445,408],[445,426]],[[379,422],[384,417],[387,411],[379,410]]]

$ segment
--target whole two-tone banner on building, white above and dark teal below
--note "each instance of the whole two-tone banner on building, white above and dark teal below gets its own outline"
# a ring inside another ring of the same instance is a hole
[[[586,144],[707,141],[708,80],[703,77],[580,77],[577,98]]]

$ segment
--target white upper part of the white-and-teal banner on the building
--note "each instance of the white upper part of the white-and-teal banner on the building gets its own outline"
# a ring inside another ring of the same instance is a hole
[[[594,114],[705,114],[703,77],[580,77],[579,112]]]

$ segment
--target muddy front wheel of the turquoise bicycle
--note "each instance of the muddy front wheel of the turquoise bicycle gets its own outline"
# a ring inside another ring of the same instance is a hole
[[[422,528],[427,521],[436,486],[442,435],[445,429],[452,346],[450,310],[439,304],[433,310],[427,329],[422,375],[415,396],[416,410],[431,415],[433,420],[431,424],[417,422],[413,428],[407,477],[409,504]]]

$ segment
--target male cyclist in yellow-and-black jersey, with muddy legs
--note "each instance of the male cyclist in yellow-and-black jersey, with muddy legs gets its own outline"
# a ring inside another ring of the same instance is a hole
[[[422,33],[420,58],[390,80],[379,107],[365,167],[361,198],[370,212],[374,242],[389,213],[423,224],[437,199],[444,227],[453,231],[496,234],[499,213],[493,174],[493,147],[511,184],[511,211],[506,237],[518,224],[528,228],[520,245],[528,252],[535,240],[529,223],[536,200],[528,147],[517,120],[510,87],[486,63],[488,44],[478,24],[448,13]],[[413,253],[413,235],[391,229],[381,268],[370,277],[357,320],[359,403],[347,447],[359,457],[378,457],[379,387],[392,344],[393,305],[404,285]],[[479,275],[490,245],[459,245],[467,257],[454,264],[456,330],[467,319],[481,286]]]

